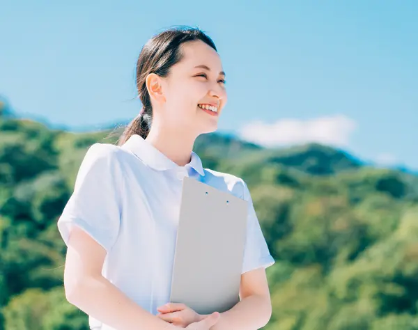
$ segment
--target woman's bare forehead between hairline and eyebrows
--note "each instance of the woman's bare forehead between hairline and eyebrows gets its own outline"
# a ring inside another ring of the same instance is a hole
[[[194,68],[196,65],[206,65],[211,70],[222,71],[222,61],[219,54],[203,41],[185,42],[180,47],[182,60],[177,63],[179,67]]]

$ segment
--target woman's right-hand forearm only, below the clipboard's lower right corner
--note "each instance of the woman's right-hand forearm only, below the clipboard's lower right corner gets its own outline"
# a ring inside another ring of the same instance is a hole
[[[271,317],[270,298],[251,295],[242,299],[229,311],[221,313],[211,330],[256,330],[268,323]]]

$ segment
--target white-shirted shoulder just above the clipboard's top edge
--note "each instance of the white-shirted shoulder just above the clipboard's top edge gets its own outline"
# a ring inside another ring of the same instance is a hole
[[[249,200],[249,191],[247,183],[242,178],[231,173],[223,173],[219,171],[205,168],[206,182],[217,189],[231,192],[234,196]]]

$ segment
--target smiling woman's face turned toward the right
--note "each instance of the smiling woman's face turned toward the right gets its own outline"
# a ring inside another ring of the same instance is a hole
[[[161,82],[164,124],[197,135],[213,132],[226,104],[219,54],[200,40],[184,43],[180,52],[183,58]]]

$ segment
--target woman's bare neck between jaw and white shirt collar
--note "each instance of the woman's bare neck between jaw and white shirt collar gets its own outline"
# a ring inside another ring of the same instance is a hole
[[[167,127],[159,129],[157,125],[151,127],[146,137],[146,141],[178,166],[185,166],[190,162],[195,140],[196,136],[178,132],[178,129],[174,130]]]

